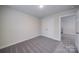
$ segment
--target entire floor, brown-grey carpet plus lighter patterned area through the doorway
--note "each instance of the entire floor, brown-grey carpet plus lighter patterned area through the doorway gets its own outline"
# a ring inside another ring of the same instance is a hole
[[[69,35],[68,35],[69,36]],[[72,37],[64,35],[61,41],[56,41],[44,36],[38,36],[30,40],[1,49],[1,53],[75,53],[77,49]]]

